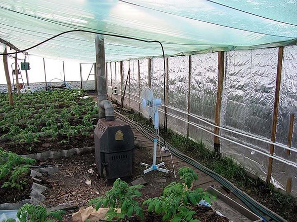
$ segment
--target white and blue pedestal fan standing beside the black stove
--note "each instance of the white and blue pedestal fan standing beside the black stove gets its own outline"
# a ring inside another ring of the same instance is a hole
[[[150,90],[150,88],[146,88],[141,93],[141,99],[142,99],[142,108],[145,113],[148,113],[148,118],[153,119],[153,126],[155,129],[155,138],[153,140],[153,158],[152,158],[152,165],[146,164],[146,163],[140,163],[143,166],[148,167],[148,169],[144,170],[144,174],[153,171],[158,170],[164,173],[168,173],[169,171],[163,168],[160,168],[160,166],[164,165],[164,162],[159,163],[156,165],[156,158],[157,158],[157,132],[159,128],[159,111],[158,107],[161,106],[161,99],[153,98],[153,94]]]

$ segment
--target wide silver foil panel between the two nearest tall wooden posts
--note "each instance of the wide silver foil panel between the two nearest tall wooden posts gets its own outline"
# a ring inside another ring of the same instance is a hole
[[[270,140],[278,49],[226,53],[221,126]],[[269,153],[269,145],[227,131],[221,135]],[[268,157],[222,140],[221,151],[234,157],[247,171],[266,180]]]

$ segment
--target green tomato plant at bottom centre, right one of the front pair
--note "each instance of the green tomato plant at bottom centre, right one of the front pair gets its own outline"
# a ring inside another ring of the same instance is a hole
[[[148,212],[154,211],[158,215],[163,215],[163,221],[199,222],[193,218],[196,212],[191,206],[195,206],[201,199],[210,202],[212,196],[204,192],[202,188],[195,190],[188,188],[198,179],[197,174],[191,168],[181,168],[179,176],[184,184],[172,182],[164,188],[160,197],[149,198],[144,205],[148,205]]]

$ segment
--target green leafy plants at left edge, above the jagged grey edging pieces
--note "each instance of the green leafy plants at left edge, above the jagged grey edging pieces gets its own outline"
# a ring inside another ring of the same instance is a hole
[[[36,160],[24,158],[16,153],[0,148],[0,179],[5,180],[1,186],[23,189],[26,185],[24,177],[30,172],[31,164]]]

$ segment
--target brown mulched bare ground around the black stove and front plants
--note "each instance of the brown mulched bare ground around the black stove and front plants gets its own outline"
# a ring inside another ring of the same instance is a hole
[[[151,153],[147,152],[145,149],[136,149],[135,153],[135,167],[133,172],[132,180],[136,180],[141,177],[144,167],[140,166],[140,162],[151,163],[152,156]],[[46,162],[41,162],[40,164],[58,164],[59,172],[47,176],[46,180],[48,182],[47,189],[44,192],[46,196],[46,201],[44,204],[47,207],[57,206],[65,202],[77,202],[79,207],[87,207],[88,202],[100,195],[103,195],[107,190],[111,188],[111,185],[107,185],[105,179],[99,178],[98,170],[95,166],[95,153],[89,153],[82,156],[73,156],[66,159],[59,160],[47,160]],[[168,165],[168,169],[171,167]],[[93,169],[93,173],[89,173],[88,170]],[[91,180],[92,185],[87,185],[86,177]],[[146,186],[141,189],[143,196],[140,198],[140,202],[148,199],[149,197],[159,196],[164,189],[164,187],[173,181],[177,181],[177,178],[173,177],[173,174],[163,174],[161,172],[154,171],[142,176],[146,182]],[[156,183],[158,179],[166,179],[166,183]],[[63,217],[63,221],[72,222],[72,214],[77,212],[78,209],[67,211]],[[201,211],[199,211],[201,212]],[[219,216],[215,215],[213,212],[202,212],[203,216],[202,222],[225,222],[226,220],[221,220]],[[213,220],[210,218],[214,218]],[[219,219],[215,219],[215,218]],[[205,218],[206,220],[203,220]],[[209,221],[209,220],[210,221]],[[130,219],[130,221],[139,222],[137,218]],[[145,222],[161,222],[162,218],[148,213],[145,211]],[[228,220],[227,220],[228,221]]]

